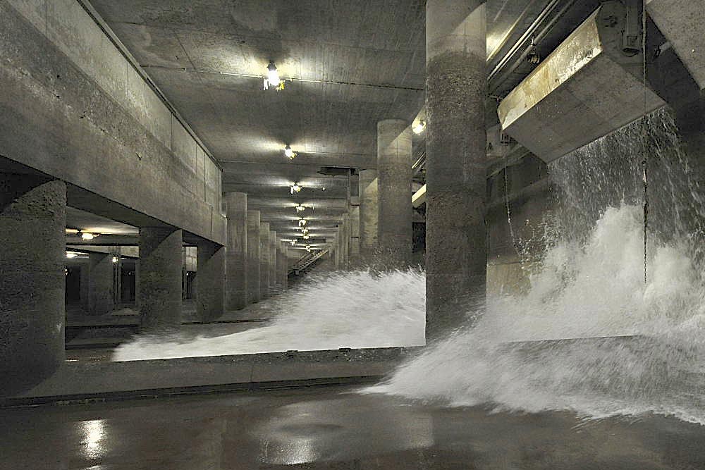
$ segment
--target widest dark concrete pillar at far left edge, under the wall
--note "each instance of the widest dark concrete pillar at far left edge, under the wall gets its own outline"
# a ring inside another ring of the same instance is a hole
[[[0,395],[64,359],[66,184],[0,173]]]

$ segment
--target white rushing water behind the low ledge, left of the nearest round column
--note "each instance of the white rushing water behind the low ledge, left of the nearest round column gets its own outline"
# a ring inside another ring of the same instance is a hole
[[[311,276],[258,304],[276,314],[267,326],[214,338],[137,336],[113,359],[424,345],[425,302],[424,276],[415,270]]]

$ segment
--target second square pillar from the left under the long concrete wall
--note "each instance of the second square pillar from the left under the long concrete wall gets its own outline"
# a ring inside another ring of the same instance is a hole
[[[181,327],[183,234],[170,227],[140,228],[137,305],[142,330]]]

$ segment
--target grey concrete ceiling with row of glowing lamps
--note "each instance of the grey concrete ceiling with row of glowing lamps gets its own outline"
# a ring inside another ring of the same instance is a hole
[[[223,191],[285,238],[301,203],[330,239],[355,188],[321,166],[376,167],[376,122],[423,105],[425,0],[90,1],[221,162]],[[548,3],[487,2],[490,70]],[[270,59],[283,91],[262,89]]]

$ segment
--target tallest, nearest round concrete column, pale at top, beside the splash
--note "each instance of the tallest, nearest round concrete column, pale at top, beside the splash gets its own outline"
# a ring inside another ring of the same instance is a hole
[[[482,0],[426,4],[426,331],[484,302],[486,20]],[[472,305],[472,304],[471,304]]]

